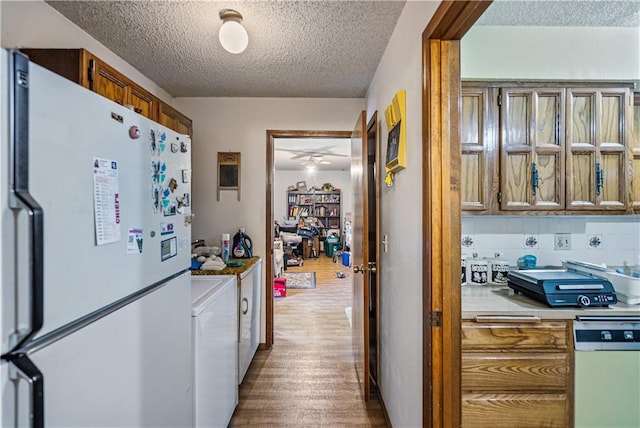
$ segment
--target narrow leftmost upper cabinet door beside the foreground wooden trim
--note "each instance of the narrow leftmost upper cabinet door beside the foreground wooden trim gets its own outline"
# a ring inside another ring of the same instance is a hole
[[[462,88],[460,131],[462,168],[460,171],[460,199],[463,211],[489,209],[491,177],[495,147],[495,127],[488,120],[488,88]]]

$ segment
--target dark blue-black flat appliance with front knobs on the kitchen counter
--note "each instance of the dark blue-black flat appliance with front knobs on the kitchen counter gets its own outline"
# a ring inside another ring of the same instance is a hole
[[[618,302],[607,279],[566,269],[510,271],[507,285],[550,307],[601,307]]]

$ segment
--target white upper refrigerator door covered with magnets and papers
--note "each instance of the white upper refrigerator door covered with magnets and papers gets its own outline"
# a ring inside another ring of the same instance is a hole
[[[188,269],[191,142],[36,64],[28,79],[29,192],[44,212],[42,337]],[[16,212],[18,245],[28,247],[29,216]],[[19,289],[29,276],[20,273]],[[26,304],[21,321],[33,312]]]

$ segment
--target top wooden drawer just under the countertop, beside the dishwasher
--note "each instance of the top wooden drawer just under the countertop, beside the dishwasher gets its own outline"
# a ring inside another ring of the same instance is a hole
[[[530,351],[532,349],[565,351],[569,348],[566,321],[537,323],[462,323],[462,349],[494,351]]]

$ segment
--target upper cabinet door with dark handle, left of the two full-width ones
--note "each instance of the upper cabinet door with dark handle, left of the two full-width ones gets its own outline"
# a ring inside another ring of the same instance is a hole
[[[564,208],[564,91],[502,89],[500,209]]]

